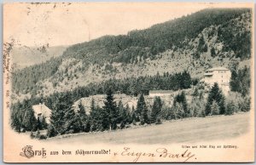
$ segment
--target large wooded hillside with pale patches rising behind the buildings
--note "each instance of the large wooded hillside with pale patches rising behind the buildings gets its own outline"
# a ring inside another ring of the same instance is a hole
[[[49,95],[110,78],[186,71],[201,78],[217,65],[250,65],[252,11],[204,9],[127,35],[73,45],[43,64],[16,71],[14,97]]]

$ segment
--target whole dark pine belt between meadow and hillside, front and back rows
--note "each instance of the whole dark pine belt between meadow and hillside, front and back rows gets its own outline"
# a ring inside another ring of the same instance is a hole
[[[246,67],[237,71],[241,79],[237,79],[236,71],[233,71],[230,87],[233,92],[229,96],[224,96],[222,90],[215,83],[207,94],[207,100],[204,100],[204,86],[195,81],[193,84],[189,74],[184,72],[177,75],[168,75],[155,77],[138,77],[134,82],[140,84],[142,80],[151,80],[151,83],[157,87],[157,84],[166,83],[172,79],[168,77],[184,77],[183,83],[178,83],[177,89],[195,87],[193,91],[193,100],[190,104],[186,99],[186,94],[180,92],[174,97],[172,106],[166,106],[160,97],[154,97],[152,107],[146,105],[144,94],[145,90],[140,88],[137,94],[137,107],[124,106],[121,102],[116,103],[113,100],[113,91],[118,92],[122,85],[120,81],[109,80],[104,85],[95,84],[86,88],[76,88],[72,92],[61,92],[50,95],[49,97],[34,97],[31,100],[24,100],[12,105],[11,126],[17,132],[21,131],[37,131],[48,129],[48,137],[53,137],[60,134],[74,134],[79,132],[94,132],[104,130],[114,130],[119,128],[130,128],[132,125],[144,124],[160,124],[162,120],[177,120],[186,117],[207,117],[212,115],[232,115],[235,112],[250,111],[250,86],[247,84],[237,88],[237,85],[243,85],[244,82],[250,84],[250,70]],[[178,79],[178,78],[177,78]],[[140,80],[140,81],[139,81]],[[236,80],[236,83],[233,83]],[[127,82],[124,80],[123,83]],[[170,81],[171,83],[172,81]],[[183,85],[181,85],[183,84]],[[99,86],[100,85],[100,86]],[[123,87],[126,87],[123,84]],[[136,85],[136,84],[133,84]],[[98,88],[97,88],[98,87]],[[103,89],[103,87],[105,87]],[[128,85],[129,87],[129,85]],[[131,87],[133,87],[131,85]],[[166,86],[158,86],[157,89],[166,89]],[[162,88],[161,88],[162,87]],[[168,86],[167,86],[168,87]],[[90,90],[92,89],[92,90]],[[131,88],[129,94],[134,93],[135,88]],[[99,91],[97,91],[99,90]],[[129,90],[128,90],[129,91]],[[147,93],[147,92],[146,92]],[[94,100],[91,101],[90,115],[85,113],[84,105],[79,103],[79,110],[75,111],[73,103],[79,98],[88,97],[93,94],[107,94],[106,101],[103,107],[96,106]],[[50,124],[48,125],[40,121],[34,116],[32,105],[37,105],[44,102],[52,110]],[[32,134],[32,137],[34,135]],[[39,139],[45,139],[46,136],[38,135]]]

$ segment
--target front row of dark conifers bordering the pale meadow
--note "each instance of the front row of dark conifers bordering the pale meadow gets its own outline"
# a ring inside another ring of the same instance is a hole
[[[204,100],[203,94],[203,91],[195,88],[192,94],[193,99],[189,104],[183,91],[174,97],[171,106],[166,106],[159,96],[154,97],[152,106],[148,106],[144,94],[140,94],[137,100],[137,107],[129,107],[129,105],[124,106],[121,101],[117,104],[113,100],[113,91],[109,89],[103,107],[99,107],[96,105],[95,100],[92,100],[89,114],[86,114],[88,110],[84,108],[81,102],[79,102],[78,109],[74,109],[70,94],[55,94],[50,123],[47,126],[47,136],[54,137],[61,134],[115,130],[118,128],[130,128],[131,125],[160,124],[162,120],[232,115],[236,111],[250,111],[249,98],[240,100],[238,101],[239,103],[236,103],[236,100],[228,100],[218,87],[218,83],[212,86],[207,96],[207,101]],[[19,115],[17,115],[19,111],[12,113],[11,126],[16,131],[20,132],[20,128],[26,131],[46,128],[43,122],[39,122],[35,118],[32,107],[27,101],[26,104],[18,104],[15,108],[23,110],[23,112],[20,111]],[[24,113],[24,111],[26,112]],[[23,120],[20,120],[19,117],[23,117]]]

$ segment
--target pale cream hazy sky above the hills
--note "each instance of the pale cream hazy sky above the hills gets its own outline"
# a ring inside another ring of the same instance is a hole
[[[3,37],[4,42],[13,38],[26,46],[70,45],[145,29],[206,8],[212,4],[10,3],[4,5]]]

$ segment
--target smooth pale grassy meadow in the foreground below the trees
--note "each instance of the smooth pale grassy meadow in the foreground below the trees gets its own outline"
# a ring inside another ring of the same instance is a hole
[[[67,134],[47,139],[56,144],[64,143],[141,143],[166,144],[198,142],[212,139],[228,139],[247,132],[249,112],[233,116],[214,116],[187,118],[166,121],[160,125],[127,128],[112,132]]]

